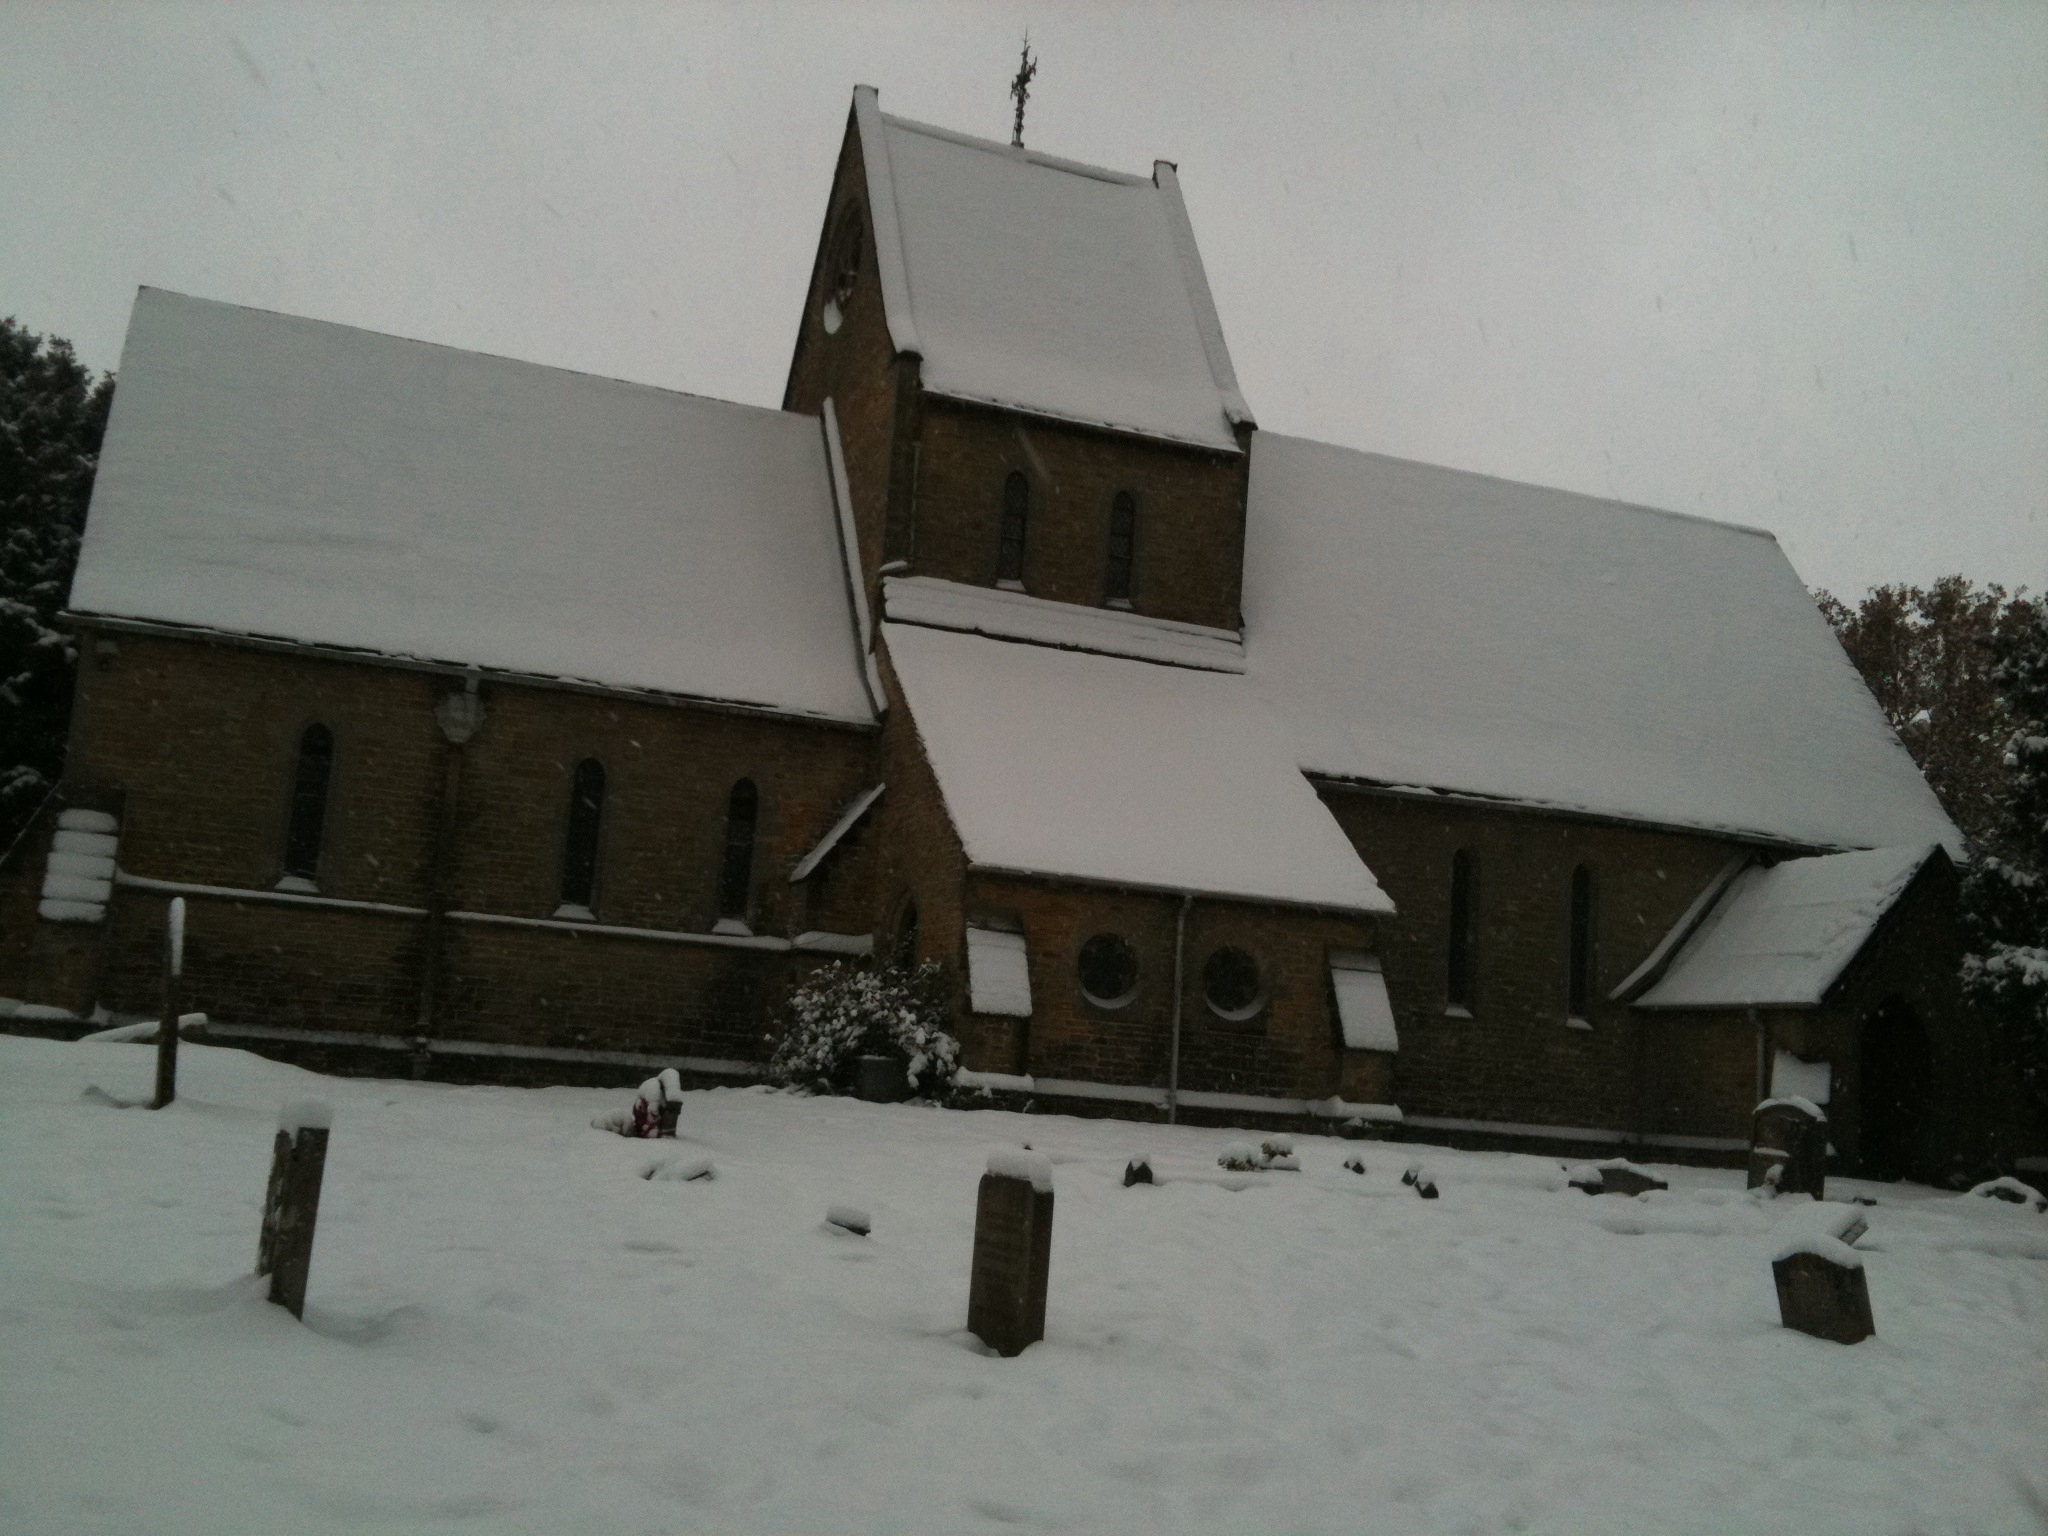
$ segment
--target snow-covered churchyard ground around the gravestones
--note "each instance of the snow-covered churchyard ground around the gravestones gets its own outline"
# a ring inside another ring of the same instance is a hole
[[[1812,1202],[1729,1171],[692,1094],[317,1079],[0,1036],[0,1530],[2036,1532],[2048,1217],[1831,1184],[1878,1337],[1778,1327]],[[88,1094],[90,1087],[102,1094]],[[248,1270],[276,1108],[336,1106],[305,1325]],[[965,1331],[975,1182],[1057,1163],[1047,1339]],[[1149,1149],[1159,1188],[1120,1188]],[[709,1182],[643,1180],[711,1157]],[[1421,1155],[1442,1198],[1401,1188]],[[1237,1184],[1241,1188],[1227,1188]],[[874,1235],[823,1225],[862,1206]]]

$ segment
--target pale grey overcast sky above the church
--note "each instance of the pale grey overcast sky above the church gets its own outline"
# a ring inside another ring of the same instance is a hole
[[[2048,4],[0,0],[0,313],[780,403],[852,86],[1176,160],[1270,430],[2048,588]]]

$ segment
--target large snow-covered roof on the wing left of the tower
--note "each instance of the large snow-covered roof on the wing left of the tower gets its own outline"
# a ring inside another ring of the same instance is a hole
[[[72,608],[872,719],[817,420],[160,289]]]

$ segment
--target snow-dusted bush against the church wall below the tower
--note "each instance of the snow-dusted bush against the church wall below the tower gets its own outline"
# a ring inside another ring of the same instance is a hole
[[[944,1022],[938,965],[901,971],[834,961],[791,993],[768,1073],[799,1087],[825,1081],[844,1090],[860,1057],[899,1057],[911,1090],[944,1092],[961,1069],[961,1042]]]

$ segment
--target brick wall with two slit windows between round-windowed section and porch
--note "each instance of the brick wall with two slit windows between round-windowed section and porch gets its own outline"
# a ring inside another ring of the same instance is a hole
[[[1716,838],[1536,811],[1323,786],[1323,799],[1393,897],[1386,989],[1401,1030],[1399,1102],[1411,1114],[1743,1135],[1753,1049],[1698,1024],[1645,1020],[1616,987],[1741,848]],[[1477,858],[1477,1004],[1446,1012],[1450,858]],[[1593,872],[1593,985],[1567,1024],[1571,874]],[[1745,1036],[1747,1038],[1747,1036]],[[1665,1071],[1651,1059],[1688,1065]],[[1665,1061],[1671,1059],[1671,1061]],[[1642,1063],[1642,1065],[1638,1065]],[[1741,1079],[1741,1092],[1735,1090]],[[1653,1094],[1645,1094],[1649,1085]],[[1724,1102],[1726,1100],[1726,1102]],[[1712,1130],[1702,1126],[1712,1124]]]

